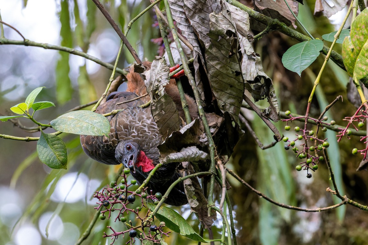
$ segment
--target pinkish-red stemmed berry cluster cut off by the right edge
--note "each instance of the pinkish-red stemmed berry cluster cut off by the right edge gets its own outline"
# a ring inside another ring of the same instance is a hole
[[[367,107],[365,107],[365,104],[362,104],[357,111],[355,112],[355,114],[353,116],[347,116],[345,117],[343,120],[348,121],[346,127],[344,129],[339,128],[341,131],[339,131],[339,134],[337,134],[336,137],[337,138],[337,142],[340,142],[340,140],[342,140],[343,136],[347,136],[350,139],[351,134],[353,133],[353,131],[351,131],[351,129],[349,129],[349,127],[354,127],[354,130],[358,131],[358,128],[362,128],[364,126],[364,121],[367,120],[368,118],[368,113],[367,113]],[[357,126],[354,125],[354,123],[357,123]],[[361,149],[358,150],[357,148],[354,148],[351,153],[353,155],[358,154],[358,152],[360,152],[360,154],[364,155],[363,157],[363,161],[367,159],[367,151],[368,151],[368,140],[367,140],[368,136],[361,136],[360,137],[360,141],[364,142],[364,144],[366,144],[366,148],[365,149]]]

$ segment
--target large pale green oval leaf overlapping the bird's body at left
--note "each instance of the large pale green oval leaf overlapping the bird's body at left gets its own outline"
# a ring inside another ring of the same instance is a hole
[[[110,132],[110,123],[105,116],[92,111],[72,111],[50,122],[51,126],[64,133],[102,136]]]

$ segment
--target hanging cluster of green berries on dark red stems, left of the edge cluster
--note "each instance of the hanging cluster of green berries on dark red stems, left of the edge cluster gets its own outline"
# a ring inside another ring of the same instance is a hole
[[[289,126],[289,122],[297,119],[305,119],[305,116],[291,116],[290,111],[286,111],[285,114],[287,116],[290,116],[290,119],[283,120],[283,122],[287,123],[287,125],[285,126],[286,131],[289,131],[291,129],[291,126]],[[324,122],[328,120],[327,116],[324,116],[321,120],[310,117],[308,117],[308,119],[314,120],[317,123],[317,132],[314,132],[314,130],[307,130],[306,127],[304,129],[301,129],[300,127],[296,126],[294,127],[294,131],[296,131],[296,138],[290,141],[288,137],[283,137],[282,140],[285,143],[288,143],[284,145],[284,148],[286,150],[292,147],[292,150],[299,159],[305,159],[304,162],[301,162],[300,165],[297,165],[295,167],[296,170],[300,171],[304,168],[304,170],[307,170],[307,178],[311,178],[312,174],[308,173],[308,170],[311,169],[312,171],[315,171],[318,169],[318,163],[322,162],[324,159],[323,156],[318,155],[318,153],[321,152],[323,148],[327,148],[330,145],[327,139],[322,140],[318,138],[317,133],[319,126],[321,126],[322,131],[325,132],[327,130],[325,126],[335,125],[336,122],[333,120],[330,121],[330,123]],[[301,141],[301,143],[299,144],[301,146],[301,149],[296,146],[296,141],[298,140]],[[308,140],[314,142],[314,145],[308,146]]]

